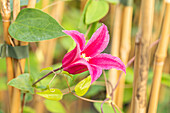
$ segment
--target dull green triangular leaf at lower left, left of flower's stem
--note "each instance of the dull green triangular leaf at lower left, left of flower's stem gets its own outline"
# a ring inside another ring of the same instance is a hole
[[[32,87],[29,73],[19,75],[18,77],[9,81],[8,85],[18,88],[25,93],[29,92],[34,94],[34,89]]]

